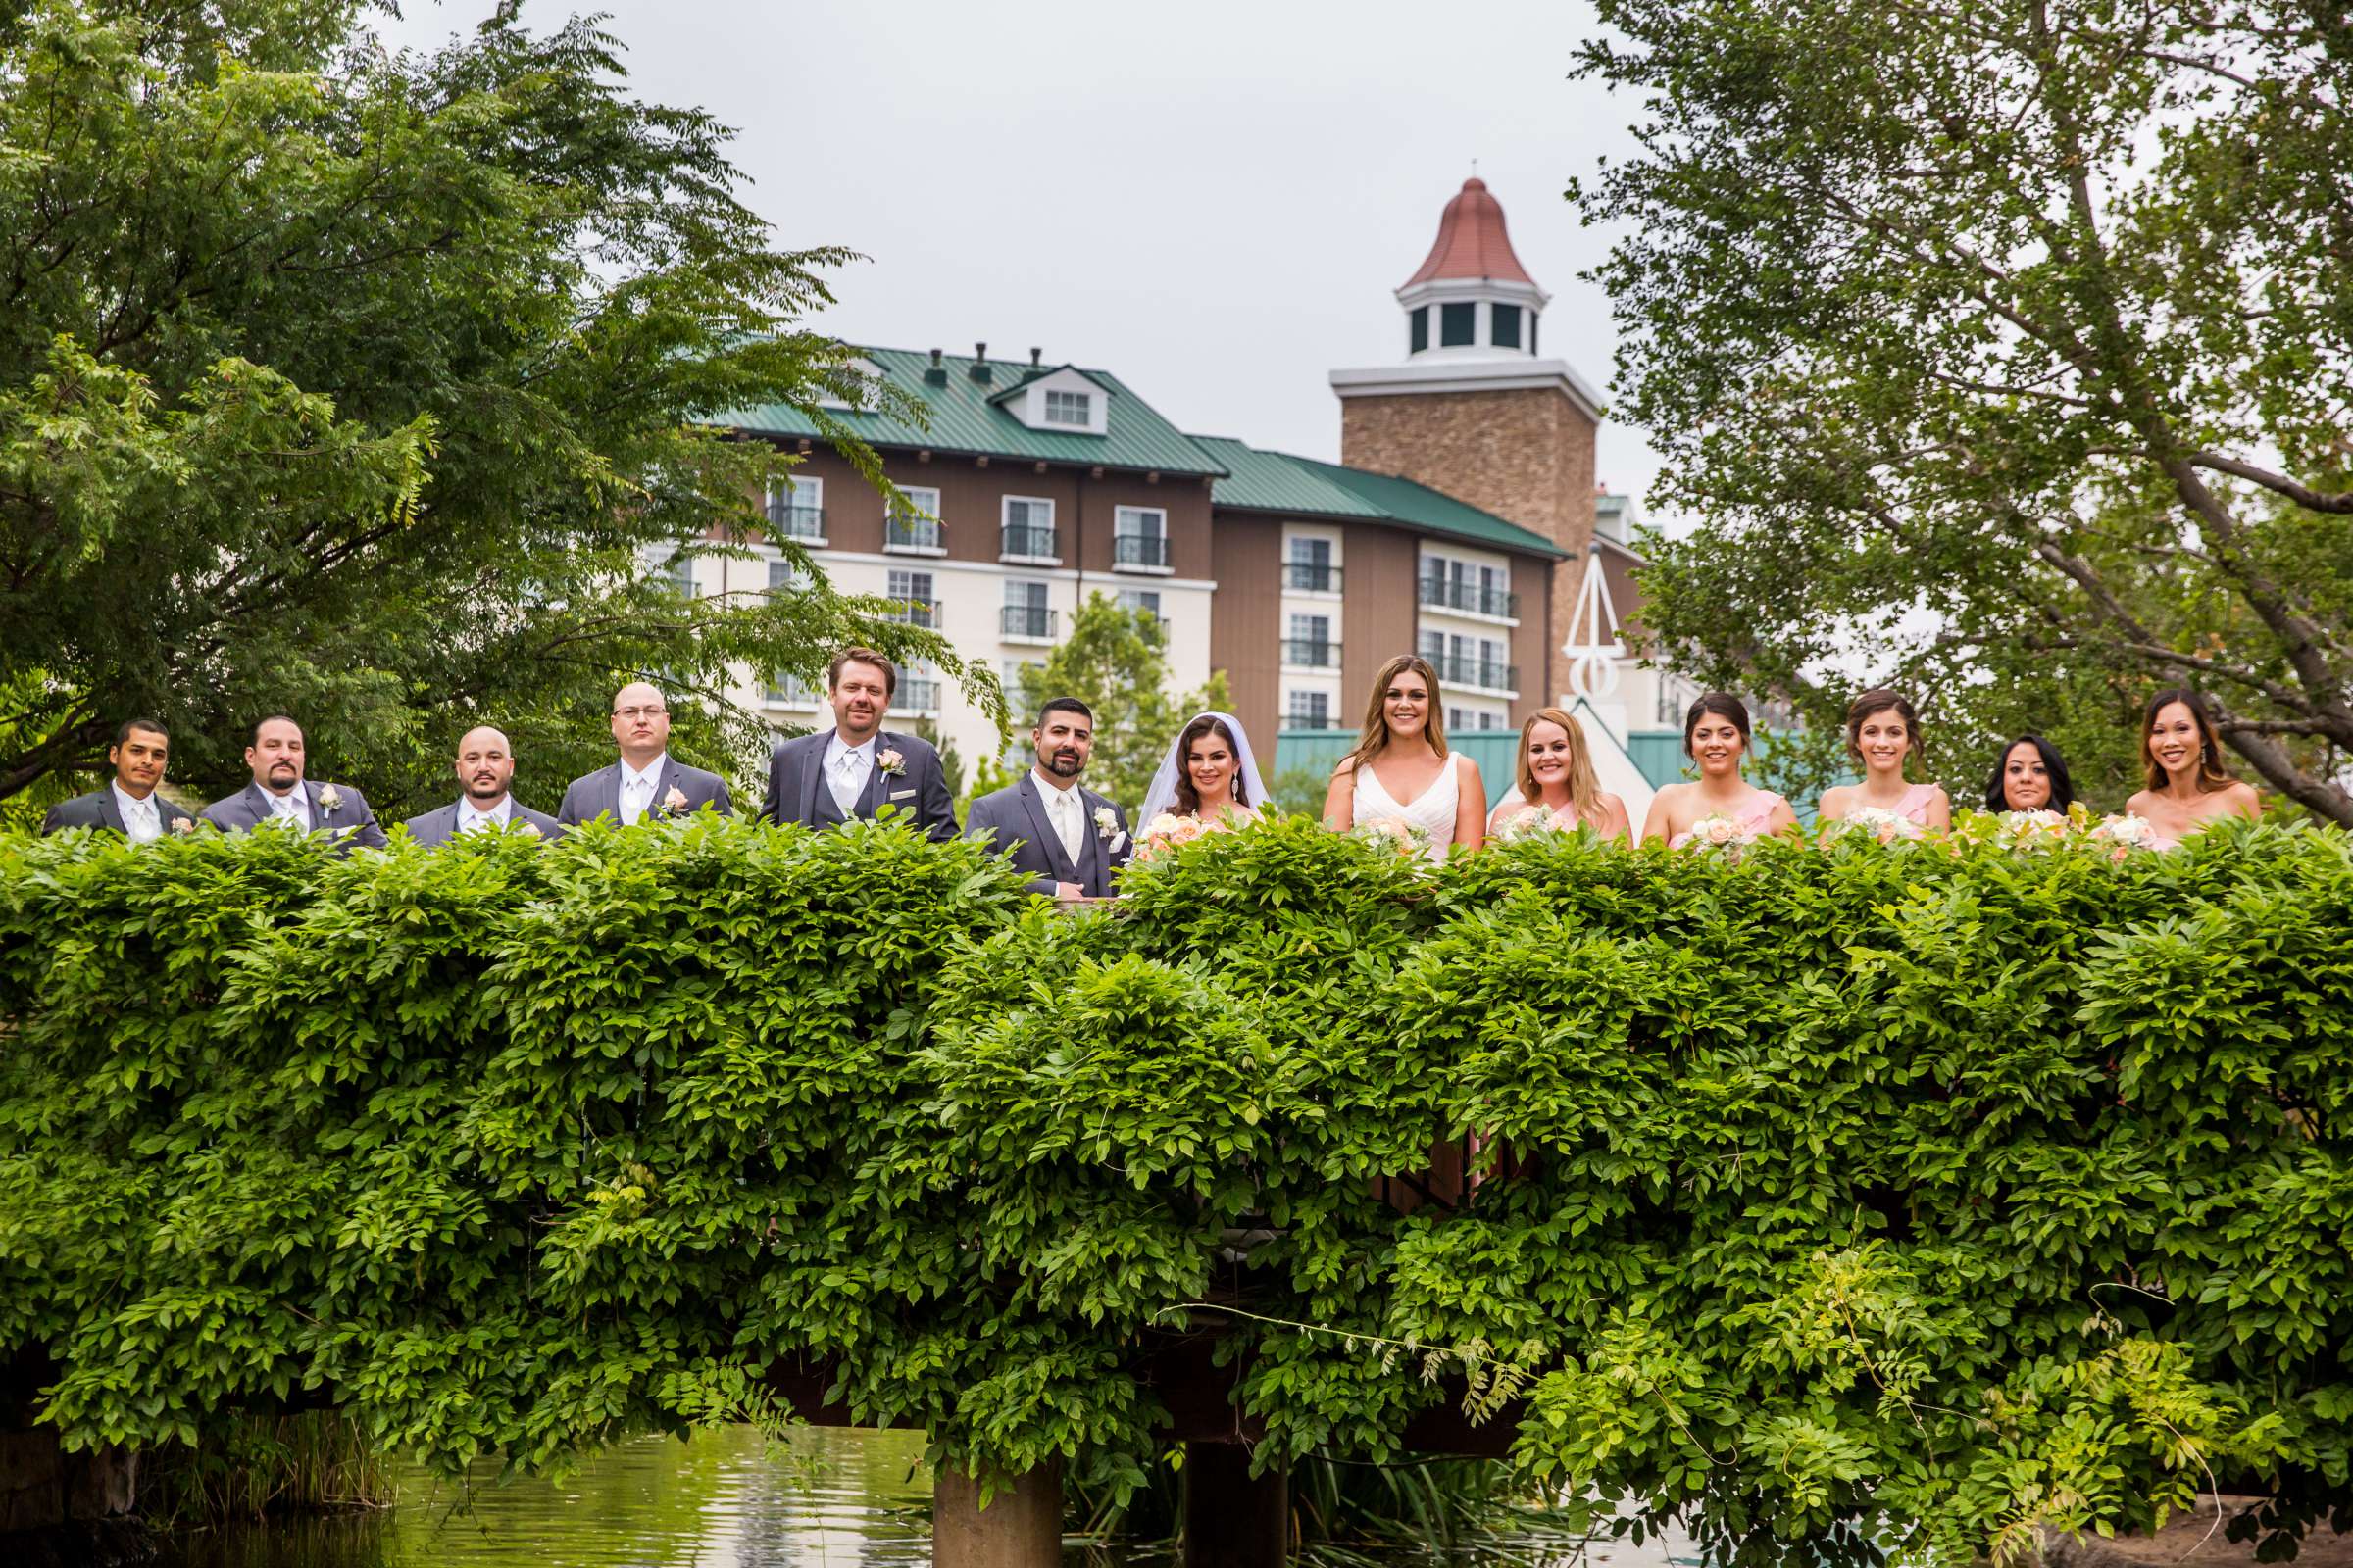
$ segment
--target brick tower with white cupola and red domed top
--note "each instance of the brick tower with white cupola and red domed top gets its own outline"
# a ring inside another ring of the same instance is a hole
[[[1539,355],[1551,296],[1520,266],[1504,205],[1468,179],[1438,242],[1398,289],[1405,360],[1332,371],[1339,461],[1402,475],[1558,543],[1546,604],[1544,701],[1569,686],[1567,635],[1593,543],[1593,435],[1602,404],[1567,360]]]

